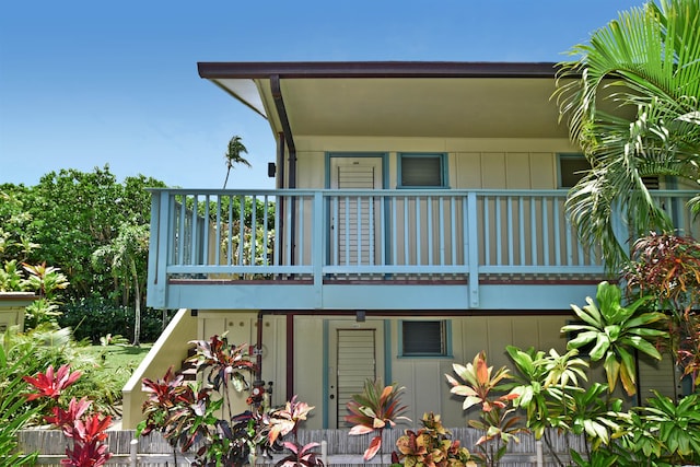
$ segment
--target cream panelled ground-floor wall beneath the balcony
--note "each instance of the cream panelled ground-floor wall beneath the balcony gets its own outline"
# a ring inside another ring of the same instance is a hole
[[[582,297],[583,299],[583,297]],[[451,354],[443,358],[404,358],[399,355],[399,323],[401,319],[450,319]],[[567,337],[560,328],[572,319],[567,314],[540,315],[493,315],[493,316],[431,316],[416,317],[410,313],[395,313],[385,316],[368,316],[366,322],[357,323],[354,316],[331,316],[300,314],[290,318],[285,315],[264,315],[264,357],[262,380],[273,382],[271,404],[283,405],[287,400],[287,334],[288,323],[293,323],[294,336],[294,394],[307,404],[315,406],[305,423],[307,429],[328,428],[335,422],[330,413],[332,394],[332,337],[329,329],[341,327],[375,327],[383,329],[377,339],[377,377],[382,381],[404,386],[402,401],[409,408],[408,417],[419,420],[423,412],[434,411],[442,415],[448,427],[460,427],[466,423],[470,413],[462,411],[460,400],[450,394],[445,374],[454,374],[453,363],[466,364],[485,350],[489,365],[494,369],[510,365],[505,352],[508,345],[522,349],[534,347],[537,350],[556,349],[565,352]],[[213,334],[228,331],[231,343],[255,342],[257,313],[233,311],[199,312],[198,338],[207,339]],[[330,372],[326,370],[330,369]],[[662,369],[658,372],[658,369]],[[667,371],[668,370],[668,371]],[[600,364],[593,364],[588,372],[588,381],[605,381]],[[662,394],[674,397],[673,364],[668,360],[661,364],[640,362],[640,394],[642,399],[655,388]],[[390,381],[389,381],[390,378]],[[642,394],[643,393],[643,394]],[[625,396],[620,388],[616,397]],[[245,395],[238,398],[236,410],[245,409]],[[635,399],[627,399],[628,405],[635,405]],[[338,418],[342,416],[339,411]],[[330,422],[329,422],[330,420]]]

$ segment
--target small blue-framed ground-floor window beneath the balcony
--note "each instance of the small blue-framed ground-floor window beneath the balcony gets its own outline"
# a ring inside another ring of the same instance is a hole
[[[446,357],[451,353],[447,320],[400,322],[401,357]]]

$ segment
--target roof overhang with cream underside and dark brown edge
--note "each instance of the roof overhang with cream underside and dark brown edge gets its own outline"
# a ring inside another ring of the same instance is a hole
[[[201,62],[198,69],[267,118],[275,133],[568,137],[551,100],[551,62]]]

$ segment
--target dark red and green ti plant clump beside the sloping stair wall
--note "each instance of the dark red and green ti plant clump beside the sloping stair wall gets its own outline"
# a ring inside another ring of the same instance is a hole
[[[253,465],[257,455],[270,455],[283,447],[291,454],[280,460],[280,466],[323,465],[313,452],[316,443],[296,444],[299,423],[306,420],[313,407],[293,397],[283,409],[267,413],[264,405],[253,404],[249,397],[250,409],[231,416],[229,388],[247,388],[243,372],[255,370],[247,346],[230,346],[225,336],[195,343],[192,361],[198,363],[202,381],[186,384],[172,369],[163,380],[144,378],[143,390],[149,398],[142,406],[145,420],[139,424],[139,434],[160,431],[183,453],[197,446],[194,465],[200,467]],[[228,410],[223,409],[224,401]],[[224,418],[226,413],[229,417]],[[288,433],[294,434],[293,442],[281,441]]]

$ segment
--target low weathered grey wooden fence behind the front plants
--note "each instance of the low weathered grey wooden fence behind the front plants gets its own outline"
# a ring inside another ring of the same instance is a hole
[[[402,434],[404,430],[386,430],[384,433],[383,446],[384,458],[376,456],[370,463],[362,460],[362,453],[369,445],[371,435],[349,436],[348,430],[304,430],[299,433],[299,441],[302,444],[310,442],[323,443],[317,448],[318,453],[325,455],[326,465],[332,466],[362,466],[364,464],[389,465],[390,452],[394,451],[396,439]],[[469,428],[452,429],[453,439],[459,440],[463,446],[470,451],[481,432]],[[149,436],[141,436],[135,440],[133,430],[109,431],[108,444],[113,457],[108,460],[109,466],[124,467],[179,467],[189,466],[194,460],[192,453],[174,452],[160,433],[152,433]],[[65,458],[66,440],[58,430],[25,430],[19,433],[19,441],[22,452],[38,452],[39,457],[36,466],[49,467],[60,466],[60,459]],[[568,445],[568,443],[571,443]],[[530,434],[522,434],[520,443],[511,443],[508,454],[501,460],[502,467],[530,467],[541,465],[544,467],[556,466],[548,450],[544,448],[541,464],[537,462],[538,443]],[[580,437],[569,440],[563,436],[552,435],[555,451],[562,460],[569,460],[569,447],[579,452],[584,452],[583,441]],[[541,450],[541,448],[540,448]],[[540,451],[541,452],[541,451]],[[258,458],[257,465],[272,466],[279,459]]]

